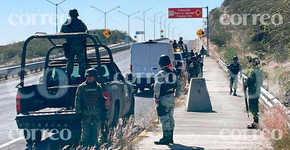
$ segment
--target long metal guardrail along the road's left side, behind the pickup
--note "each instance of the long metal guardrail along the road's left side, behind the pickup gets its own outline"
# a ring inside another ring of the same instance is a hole
[[[155,39],[153,41],[162,41],[168,38],[160,38],[160,39]],[[126,45],[126,46],[120,46],[120,47],[116,47],[116,48],[111,48],[111,52],[112,53],[117,53],[120,51],[124,51],[124,50],[128,50],[131,48],[131,44],[130,45]],[[100,53],[100,57],[108,55],[107,50],[101,50],[99,51]],[[96,54],[95,52],[92,53],[87,53],[87,57],[94,57]],[[64,54],[59,54],[60,57],[64,57]],[[42,69],[44,68],[44,62],[45,61],[41,61],[41,62],[34,62],[34,63],[30,63],[30,64],[26,64],[25,65],[25,75],[27,72],[32,73],[32,71],[37,71],[38,68],[42,71]],[[11,75],[14,78],[14,75],[19,75],[20,76],[20,71],[21,71],[21,65],[18,66],[12,66],[12,67],[7,67],[7,68],[0,68],[0,76],[5,76],[5,79],[8,78],[8,75]]]

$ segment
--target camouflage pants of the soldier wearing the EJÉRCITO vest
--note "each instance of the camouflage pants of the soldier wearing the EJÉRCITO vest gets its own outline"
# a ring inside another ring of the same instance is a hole
[[[93,144],[98,144],[99,139],[99,130],[101,129],[102,120],[101,120],[101,114],[96,111],[92,111],[89,109],[83,110],[82,116],[81,116],[81,141],[83,144],[89,144],[89,135],[90,135],[90,129],[93,129]]]

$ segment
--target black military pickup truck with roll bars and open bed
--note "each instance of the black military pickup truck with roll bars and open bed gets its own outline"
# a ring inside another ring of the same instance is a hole
[[[48,39],[52,47],[46,53],[43,77],[39,84],[24,86],[26,46],[32,39]],[[81,118],[75,114],[75,93],[80,81],[77,59],[75,59],[70,84],[66,77],[66,59],[49,59],[52,50],[62,48],[52,39],[89,38],[94,44],[86,47],[95,47],[95,56],[87,57],[85,51],[85,67],[95,68],[99,73],[97,82],[104,90],[107,98],[106,107],[109,110],[109,125],[116,126],[119,118],[134,115],[134,88],[125,79],[118,66],[114,63],[110,49],[103,45],[95,33],[58,33],[32,35],[23,44],[21,57],[20,83],[17,85],[16,122],[19,129],[25,129],[24,137],[28,143],[39,142],[42,137],[41,129],[73,129],[81,130]],[[108,57],[99,56],[99,47],[108,52]],[[35,129],[35,138],[30,136]],[[30,133],[28,133],[30,132]],[[30,137],[30,138],[29,138]]]

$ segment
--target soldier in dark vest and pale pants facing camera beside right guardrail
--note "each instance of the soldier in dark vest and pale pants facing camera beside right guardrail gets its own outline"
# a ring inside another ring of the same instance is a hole
[[[230,93],[229,95],[231,95],[233,93],[233,83],[234,83],[234,94],[233,96],[237,96],[236,91],[238,88],[238,74],[240,71],[240,78],[242,78],[242,67],[241,65],[238,63],[239,58],[237,56],[233,57],[233,62],[227,66],[227,68],[229,69],[229,74],[230,74]]]

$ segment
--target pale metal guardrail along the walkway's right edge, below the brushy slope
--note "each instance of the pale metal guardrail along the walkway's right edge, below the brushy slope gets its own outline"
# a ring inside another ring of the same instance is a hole
[[[225,62],[222,61],[222,59],[218,59],[218,62],[220,66],[228,72],[228,68],[226,68]],[[240,76],[240,75],[239,75]],[[242,74],[242,77],[244,79],[247,79],[247,76]],[[264,104],[267,105],[269,108],[275,106],[281,106],[284,110],[288,110],[279,100],[277,100],[271,93],[269,93],[267,90],[265,90],[263,87],[261,87],[261,94],[260,94],[261,99],[263,100]]]

